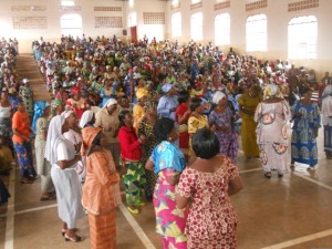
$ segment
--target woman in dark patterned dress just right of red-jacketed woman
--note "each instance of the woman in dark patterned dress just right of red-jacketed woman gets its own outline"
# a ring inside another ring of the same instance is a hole
[[[138,137],[144,135],[146,137],[146,143],[142,145],[142,164],[145,165],[148,157],[152,154],[154,147],[158,144],[157,138],[154,134],[154,124],[157,120],[157,108],[154,103],[148,103],[145,105],[145,118],[143,118],[138,124]],[[146,185],[145,185],[145,197],[148,200],[153,199],[154,188],[158,176],[152,170],[145,170]]]

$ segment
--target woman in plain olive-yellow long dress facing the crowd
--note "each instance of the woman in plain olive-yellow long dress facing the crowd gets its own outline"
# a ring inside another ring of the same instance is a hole
[[[253,120],[253,114],[257,105],[261,102],[261,89],[258,85],[252,85],[248,93],[243,93],[238,100],[242,118],[241,139],[242,149],[247,159],[259,157],[257,145],[256,127],[257,123]]]

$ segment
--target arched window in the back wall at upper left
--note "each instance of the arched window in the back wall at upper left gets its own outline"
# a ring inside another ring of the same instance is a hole
[[[82,35],[82,18],[80,14],[63,14],[61,17],[61,33],[64,35]]]

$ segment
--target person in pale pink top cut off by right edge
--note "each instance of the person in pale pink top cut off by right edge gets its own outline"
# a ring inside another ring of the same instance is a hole
[[[322,94],[322,124],[324,126],[324,151],[328,159],[332,158],[332,81]]]

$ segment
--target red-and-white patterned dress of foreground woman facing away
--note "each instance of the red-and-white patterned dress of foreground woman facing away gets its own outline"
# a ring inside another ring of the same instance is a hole
[[[193,200],[186,225],[188,249],[237,248],[238,218],[227,191],[239,170],[222,157],[224,165],[215,173],[187,167],[180,176],[177,193]]]

